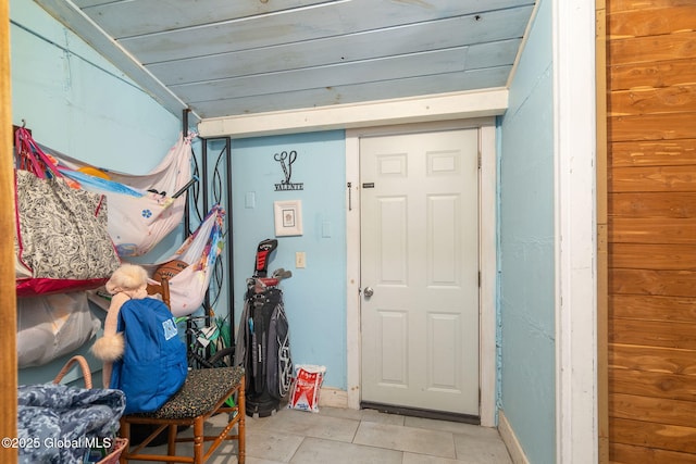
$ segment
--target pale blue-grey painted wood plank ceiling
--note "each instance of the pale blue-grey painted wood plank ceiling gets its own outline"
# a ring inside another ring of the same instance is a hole
[[[36,0],[198,118],[506,87],[535,0]]]

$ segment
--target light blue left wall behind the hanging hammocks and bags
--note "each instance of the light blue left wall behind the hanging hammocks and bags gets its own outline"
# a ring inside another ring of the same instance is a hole
[[[159,163],[181,131],[176,116],[34,1],[12,0],[10,20],[13,124],[25,120],[38,142],[104,167],[141,174]],[[166,255],[182,236],[150,254]],[[100,368],[90,344],[79,352]],[[20,384],[52,380],[66,358],[21,369]]]

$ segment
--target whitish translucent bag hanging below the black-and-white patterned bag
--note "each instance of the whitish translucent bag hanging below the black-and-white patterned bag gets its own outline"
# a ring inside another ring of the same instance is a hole
[[[85,344],[100,327],[84,291],[17,298],[17,364],[47,364]]]

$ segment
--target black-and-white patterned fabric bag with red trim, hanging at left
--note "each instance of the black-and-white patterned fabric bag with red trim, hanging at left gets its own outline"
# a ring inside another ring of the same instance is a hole
[[[27,134],[16,142],[17,294],[97,287],[120,265],[105,197],[69,186]]]

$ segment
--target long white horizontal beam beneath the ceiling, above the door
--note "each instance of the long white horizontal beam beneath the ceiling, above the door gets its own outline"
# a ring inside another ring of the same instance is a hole
[[[259,137],[303,131],[497,116],[508,108],[505,88],[378,100],[238,116],[209,117],[198,124],[203,138]]]

